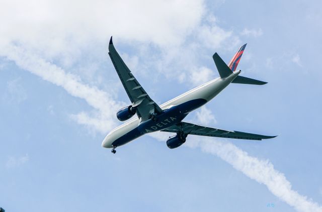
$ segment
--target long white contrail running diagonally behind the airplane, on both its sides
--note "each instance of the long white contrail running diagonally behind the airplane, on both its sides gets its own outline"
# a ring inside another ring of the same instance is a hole
[[[125,105],[122,102],[113,100],[108,93],[99,90],[97,87],[84,84],[79,77],[66,73],[60,67],[46,62],[41,57],[30,54],[17,46],[9,46],[6,48],[6,52],[1,51],[4,50],[0,50],[0,55],[15,61],[19,67],[63,87],[72,96],[85,99],[89,105],[99,111],[95,118],[91,118],[85,113],[76,115],[78,124],[90,125],[101,133],[111,130],[115,126],[114,112],[120,109],[121,105]],[[164,136],[160,137],[158,135],[155,134],[153,137],[164,138]],[[265,184],[270,192],[297,211],[322,212],[322,207],[319,204],[293,190],[291,183],[284,174],[274,169],[269,160],[249,156],[247,152],[229,142],[221,142],[213,138],[191,137],[195,138],[194,141],[187,142],[185,146],[190,148],[199,147],[205,153],[220,157],[236,170],[243,172],[246,176],[259,183]]]

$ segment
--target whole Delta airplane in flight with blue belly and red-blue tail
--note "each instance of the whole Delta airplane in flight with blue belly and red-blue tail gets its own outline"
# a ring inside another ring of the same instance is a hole
[[[221,130],[204,127],[187,122],[183,119],[192,111],[214,98],[230,83],[263,85],[267,82],[239,76],[240,70],[236,70],[246,44],[241,46],[235,55],[226,63],[215,53],[212,57],[219,72],[219,77],[212,79],[196,88],[193,88],[161,105],[153,101],[145,92],[141,84],[136,80],[132,72],[126,66],[117,53],[112,37],[109,42],[109,56],[116,72],[130,98],[131,104],[120,109],[116,116],[119,121],[126,121],[135,114],[137,118],[131,119],[123,125],[112,130],[103,140],[102,147],[115,148],[127,144],[134,139],[156,131],[171,132],[176,135],[169,137],[167,146],[170,149],[177,148],[186,142],[188,135],[211,136],[232,139],[262,140],[276,136],[264,136],[239,131]]]

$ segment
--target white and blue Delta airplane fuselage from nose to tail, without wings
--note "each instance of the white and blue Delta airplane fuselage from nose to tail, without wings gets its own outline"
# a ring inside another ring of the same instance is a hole
[[[119,147],[146,133],[160,131],[180,123],[190,112],[200,108],[220,93],[239,73],[238,70],[224,79],[218,77],[163,103],[160,108],[164,112],[157,115],[154,121],[149,119],[141,122],[136,118],[124,123],[105,137],[102,146]]]

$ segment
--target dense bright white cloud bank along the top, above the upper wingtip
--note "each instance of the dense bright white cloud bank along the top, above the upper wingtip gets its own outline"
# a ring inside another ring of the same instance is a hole
[[[111,35],[159,46],[179,45],[201,20],[204,6],[201,0],[5,0],[0,14],[0,45],[19,42],[46,59],[63,54],[61,58],[72,60],[82,48],[106,43]]]

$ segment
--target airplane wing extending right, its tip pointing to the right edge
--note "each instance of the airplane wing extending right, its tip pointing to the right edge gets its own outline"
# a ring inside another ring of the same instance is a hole
[[[194,125],[186,122],[181,122],[177,125],[174,125],[162,131],[171,132],[171,133],[177,133],[177,132],[183,131],[185,134],[197,135],[197,136],[211,136],[211,137],[247,139],[247,140],[262,140],[262,139],[270,139],[270,138],[276,137],[276,136],[263,136],[263,135],[252,134],[252,133],[244,133],[239,131],[220,130],[216,128]]]

